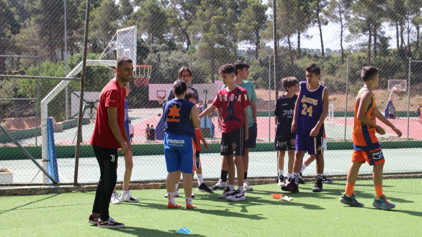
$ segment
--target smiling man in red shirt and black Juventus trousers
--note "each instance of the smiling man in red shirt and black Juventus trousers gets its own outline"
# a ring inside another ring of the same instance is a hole
[[[116,76],[103,88],[98,100],[90,144],[100,166],[100,180],[88,222],[101,228],[125,227],[110,217],[109,205],[117,180],[117,150],[121,148],[123,155],[132,150],[124,127],[124,85],[131,81],[132,75],[133,61],[127,57],[119,57],[116,60]]]

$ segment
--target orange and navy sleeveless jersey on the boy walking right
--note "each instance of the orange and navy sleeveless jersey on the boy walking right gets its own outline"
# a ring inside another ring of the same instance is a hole
[[[357,119],[357,109],[359,108],[359,96],[364,91],[371,92],[371,103],[369,104],[368,108],[366,108],[366,117],[368,117],[372,122],[377,123],[375,115],[375,95],[367,87],[361,87],[356,96],[355,120],[353,124],[353,150],[356,151],[369,151],[380,147],[377,136],[375,135],[375,129],[371,126],[362,123]]]

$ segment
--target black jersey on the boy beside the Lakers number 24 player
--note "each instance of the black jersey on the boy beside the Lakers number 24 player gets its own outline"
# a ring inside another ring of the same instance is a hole
[[[285,94],[278,97],[275,102],[274,116],[278,116],[277,126],[275,127],[276,137],[291,136],[291,123],[293,122],[294,104],[297,95],[289,98]]]

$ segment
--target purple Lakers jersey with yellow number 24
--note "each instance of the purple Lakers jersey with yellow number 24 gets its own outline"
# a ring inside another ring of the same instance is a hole
[[[300,82],[299,104],[297,106],[296,134],[309,136],[322,114],[322,99],[325,86],[319,84],[314,90],[308,89],[306,81]],[[317,137],[322,137],[324,125],[318,131]]]

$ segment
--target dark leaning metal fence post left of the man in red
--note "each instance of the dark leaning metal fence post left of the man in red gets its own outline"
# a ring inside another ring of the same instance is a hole
[[[85,74],[87,72],[87,49],[88,49],[88,29],[89,29],[89,6],[90,2],[87,0],[87,11],[85,15],[85,34],[84,34],[84,55],[82,59],[82,74],[81,74],[81,94],[79,97],[79,114],[78,114],[78,139],[76,142],[75,151],[75,174],[73,179],[73,185],[78,185],[78,169],[79,169],[79,155],[82,141],[82,104],[84,103],[84,91],[85,91]]]

